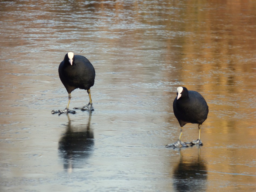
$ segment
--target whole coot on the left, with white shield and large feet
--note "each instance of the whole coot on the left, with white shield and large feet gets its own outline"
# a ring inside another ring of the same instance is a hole
[[[68,105],[71,100],[71,92],[77,88],[87,90],[89,103],[84,107],[74,109],[93,111],[90,88],[94,85],[95,70],[90,61],[82,55],[74,55],[69,52],[59,65],[59,76],[68,92],[68,104],[64,110],[52,110],[51,113],[76,113],[74,110],[68,109]]]

